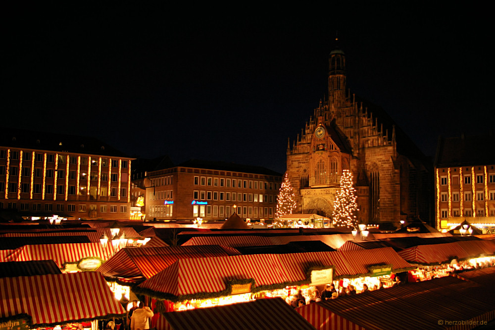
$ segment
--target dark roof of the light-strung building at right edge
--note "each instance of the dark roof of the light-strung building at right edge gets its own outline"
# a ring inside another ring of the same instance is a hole
[[[435,167],[495,164],[493,134],[439,138]]]

